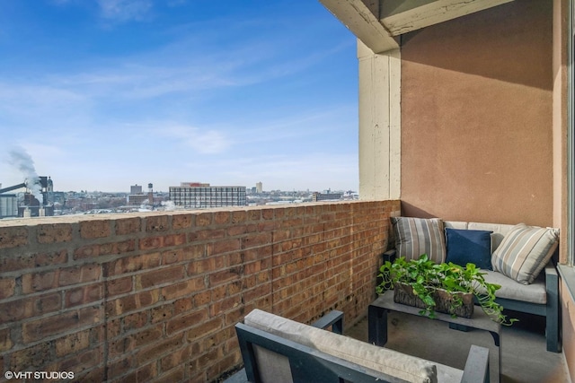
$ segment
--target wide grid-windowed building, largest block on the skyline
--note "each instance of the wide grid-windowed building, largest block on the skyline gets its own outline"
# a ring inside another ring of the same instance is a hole
[[[210,187],[196,182],[170,187],[170,200],[174,205],[189,208],[246,205],[245,187]]]

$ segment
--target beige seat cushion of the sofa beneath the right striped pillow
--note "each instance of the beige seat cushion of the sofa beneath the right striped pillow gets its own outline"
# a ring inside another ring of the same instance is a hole
[[[544,305],[547,303],[547,292],[545,291],[544,274],[541,274],[534,283],[522,284],[496,271],[485,271],[483,275],[488,283],[495,283],[501,286],[495,292],[495,296],[506,300],[520,300]]]

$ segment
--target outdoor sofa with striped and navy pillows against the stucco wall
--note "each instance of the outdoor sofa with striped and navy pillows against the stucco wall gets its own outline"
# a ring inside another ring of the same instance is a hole
[[[547,351],[561,352],[559,230],[517,225],[392,217],[395,248],[385,257],[428,254],[435,262],[468,262],[481,267],[489,283],[500,284],[504,309],[545,317]]]

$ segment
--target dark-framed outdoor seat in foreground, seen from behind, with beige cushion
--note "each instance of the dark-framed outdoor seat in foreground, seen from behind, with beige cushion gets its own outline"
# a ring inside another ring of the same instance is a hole
[[[341,335],[343,313],[313,326],[254,309],[235,326],[244,370],[238,382],[488,382],[489,349],[472,345],[464,370]],[[332,326],[332,332],[322,328]]]

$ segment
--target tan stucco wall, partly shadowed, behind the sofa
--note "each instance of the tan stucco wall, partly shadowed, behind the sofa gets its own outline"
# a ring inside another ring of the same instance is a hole
[[[553,225],[552,5],[403,36],[403,214]]]

